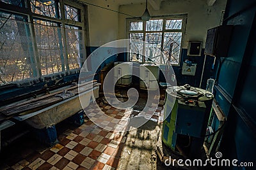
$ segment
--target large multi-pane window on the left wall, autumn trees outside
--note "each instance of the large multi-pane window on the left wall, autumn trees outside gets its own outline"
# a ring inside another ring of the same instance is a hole
[[[80,69],[86,56],[83,5],[0,1],[8,7],[0,6],[0,84]],[[15,6],[24,12],[20,14]]]

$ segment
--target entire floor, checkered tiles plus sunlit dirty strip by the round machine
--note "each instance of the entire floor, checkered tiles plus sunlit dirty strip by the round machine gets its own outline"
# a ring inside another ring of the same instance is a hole
[[[145,99],[140,99],[133,108],[119,110],[109,106],[104,98],[97,100],[100,110],[119,119],[120,125],[123,118],[136,117],[144,102]],[[157,112],[161,110],[160,105]],[[114,132],[93,123],[97,119],[108,126],[116,124],[101,120],[98,112],[92,103],[86,108],[86,116],[94,120],[85,117],[79,127],[66,121],[56,125],[59,143],[51,148],[38,143],[31,134],[13,143],[3,150],[0,169],[157,169],[154,148],[160,131],[159,113],[152,113],[138,129]]]

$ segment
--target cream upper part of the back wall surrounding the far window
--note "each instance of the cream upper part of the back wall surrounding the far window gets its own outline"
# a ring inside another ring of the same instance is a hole
[[[162,1],[160,10],[153,10],[152,6],[148,5],[148,11],[152,16],[173,15],[173,14],[188,14],[186,24],[185,41],[182,48],[188,48],[188,41],[203,41],[205,45],[207,29],[220,25],[221,11],[225,10],[227,0],[217,0],[213,6],[208,6],[206,0],[166,0]],[[131,4],[120,6],[119,11],[141,17],[145,11],[145,3]],[[131,18],[127,15],[119,15],[119,34],[118,38],[127,38],[126,18]]]

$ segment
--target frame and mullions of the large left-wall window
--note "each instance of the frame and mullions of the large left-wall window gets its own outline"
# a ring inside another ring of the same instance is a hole
[[[34,13],[31,10],[31,1],[30,0],[20,0],[22,2],[22,4],[25,4],[24,6],[15,6],[14,4],[8,4],[8,3],[4,3],[3,1],[0,1],[0,11],[6,12],[6,13],[13,13],[13,15],[23,15],[26,16],[28,18],[28,20],[26,20],[25,22],[28,22],[29,24],[29,34],[31,35],[31,41],[32,41],[32,45],[30,46],[31,48],[33,48],[33,58],[35,58],[35,67],[33,68],[33,76],[31,78],[39,78],[41,76],[47,76],[50,74],[45,74],[42,75],[42,69],[41,69],[41,62],[39,59],[39,50],[37,49],[37,43],[36,43],[36,34],[35,34],[35,23],[34,23],[34,19],[36,20],[45,20],[45,21],[49,21],[49,22],[55,22],[55,23],[59,23],[60,24],[60,29],[63,30],[63,42],[67,42],[67,38],[65,37],[66,31],[65,31],[65,26],[66,25],[72,25],[74,27],[79,27],[81,29],[79,29],[79,31],[82,32],[82,41],[83,41],[83,59],[80,60],[81,64],[83,64],[84,60],[86,60],[86,44],[89,41],[89,36],[88,36],[88,10],[87,10],[87,6],[81,3],[74,3],[72,1],[64,1],[64,0],[56,0],[55,3],[58,3],[58,8],[55,8],[55,12],[54,15],[57,15],[57,11],[60,10],[60,17],[49,17],[47,15],[42,15],[42,14],[38,14],[38,13]],[[73,8],[77,8],[77,10],[79,10],[80,13],[80,20],[76,21],[76,20],[71,20],[71,19],[67,19],[65,18],[65,5],[71,6]],[[65,45],[65,43],[63,43],[63,46],[67,46]],[[67,47],[64,47],[67,48]],[[70,69],[68,67],[68,59],[67,59],[67,50],[63,52],[63,55],[65,56],[65,66],[63,66],[63,64],[61,64],[60,67],[62,67],[62,69],[56,73],[61,73],[61,72],[65,72],[65,71],[71,71],[74,69]],[[64,68],[64,69],[63,69]],[[75,68],[77,69],[77,68]],[[78,68],[81,69],[81,66]],[[26,80],[26,79],[24,79]],[[20,81],[20,80],[17,80]],[[15,82],[15,81],[12,81]],[[12,82],[8,82],[8,83],[12,83]]]

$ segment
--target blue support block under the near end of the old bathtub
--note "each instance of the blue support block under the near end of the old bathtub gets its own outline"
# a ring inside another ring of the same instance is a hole
[[[46,127],[45,129],[34,129],[36,138],[48,146],[54,146],[58,143],[55,125]]]

